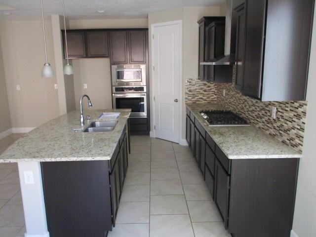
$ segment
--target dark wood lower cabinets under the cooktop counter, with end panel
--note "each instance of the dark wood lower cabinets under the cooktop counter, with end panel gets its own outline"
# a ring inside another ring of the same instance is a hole
[[[186,137],[227,231],[233,237],[290,237],[299,159],[229,159],[208,134],[204,140],[189,113]]]

